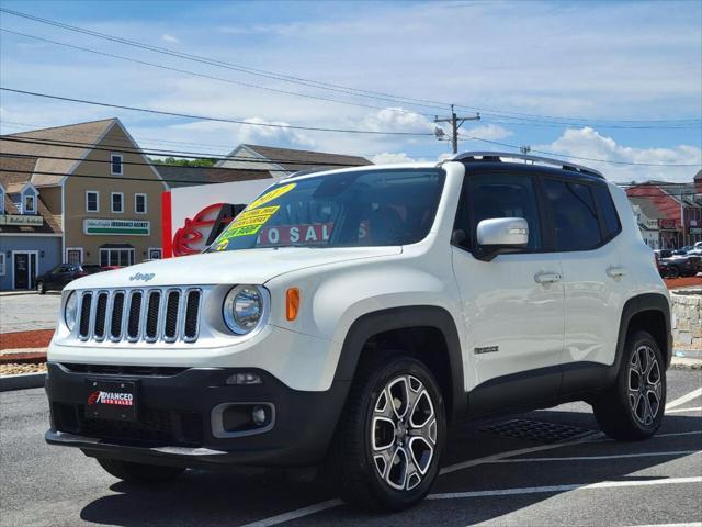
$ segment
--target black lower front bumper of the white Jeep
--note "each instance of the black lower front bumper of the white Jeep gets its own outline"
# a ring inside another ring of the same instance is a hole
[[[78,447],[91,457],[125,461],[212,467],[213,464],[306,466],[321,460],[348,392],[348,382],[333,382],[325,392],[287,388],[256,369],[101,367],[48,363],[46,393],[52,445]],[[116,368],[115,368],[116,369]],[[227,385],[233,373],[256,372],[261,384]],[[138,383],[139,421],[86,419],[87,380]],[[213,408],[223,403],[269,403],[275,408],[270,430],[238,437],[216,437]]]

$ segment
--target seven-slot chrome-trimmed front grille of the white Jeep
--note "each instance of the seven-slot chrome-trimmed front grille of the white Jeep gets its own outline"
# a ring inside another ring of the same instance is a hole
[[[80,293],[78,338],[112,343],[193,343],[202,293],[195,288],[145,288]]]

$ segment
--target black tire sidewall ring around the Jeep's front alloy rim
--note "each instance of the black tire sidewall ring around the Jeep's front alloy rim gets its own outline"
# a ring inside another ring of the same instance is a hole
[[[371,445],[371,426],[375,401],[387,383],[404,374],[416,377],[422,382],[429,392],[437,417],[437,444],[434,445],[434,453],[430,469],[422,478],[421,483],[411,491],[394,490],[381,479],[375,468]],[[434,480],[439,475],[439,463],[446,437],[446,418],[441,389],[429,370],[418,360],[410,358],[397,358],[396,360],[387,362],[373,375],[366,388],[363,401],[365,413],[363,426],[361,426],[360,429],[363,434],[363,464],[367,472],[369,485],[371,485],[374,491],[373,493],[380,498],[384,507],[389,509],[407,508],[409,505],[421,501],[429,493]]]

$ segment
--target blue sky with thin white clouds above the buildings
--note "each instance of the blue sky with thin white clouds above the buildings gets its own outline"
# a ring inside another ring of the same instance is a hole
[[[261,70],[479,108],[484,119],[464,125],[466,137],[614,161],[702,164],[700,1],[3,0],[2,7]],[[0,80],[11,88],[249,122],[376,131],[431,133],[431,115],[448,111],[444,104],[390,102],[261,78],[5,13],[0,15],[0,27],[225,79],[158,69],[0,32]],[[347,104],[237,82],[340,99]],[[516,120],[516,112],[548,117]],[[377,161],[437,159],[449,148],[448,143],[432,137],[262,128],[0,92],[2,133],[107,116],[118,116],[145,148],[223,155],[247,142],[358,154]],[[680,124],[672,121],[627,122],[692,119],[698,121],[684,124],[694,126],[684,128],[663,127]],[[632,128],[633,124],[653,127]],[[467,138],[461,143],[461,149],[495,148]],[[689,181],[700,168],[586,164],[618,181]]]

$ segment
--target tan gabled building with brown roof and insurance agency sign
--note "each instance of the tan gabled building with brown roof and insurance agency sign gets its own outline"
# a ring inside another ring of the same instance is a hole
[[[167,186],[120,120],[3,135],[0,153],[35,158],[30,182],[60,218],[63,262],[127,266],[161,257]]]

